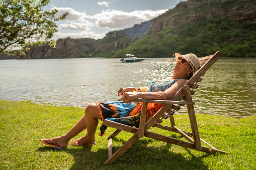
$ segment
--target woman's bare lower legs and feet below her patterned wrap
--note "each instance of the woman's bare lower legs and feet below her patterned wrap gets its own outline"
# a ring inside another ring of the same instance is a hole
[[[92,143],[92,141],[95,141],[95,132],[98,126],[98,119],[101,119],[100,111],[98,109],[98,105],[93,103],[87,106],[86,111],[84,115],[80,118],[80,120],[65,134],[58,136],[58,137],[53,137],[51,138],[57,145],[60,147],[67,147],[68,141],[82,132],[83,130],[87,129],[88,135],[81,137],[77,141],[82,142],[82,143]],[[49,139],[44,139],[45,142],[47,143],[52,143],[51,140]],[[72,144],[79,145],[77,141]],[[77,144],[78,143],[78,144]]]

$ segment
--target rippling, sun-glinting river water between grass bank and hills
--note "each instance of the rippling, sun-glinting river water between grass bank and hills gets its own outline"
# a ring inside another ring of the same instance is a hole
[[[138,63],[77,58],[0,60],[0,99],[84,107],[119,99],[121,87],[140,87],[172,75],[173,58]],[[256,58],[220,58],[203,76],[193,100],[197,114],[256,114]],[[185,114],[186,108],[176,114]]]

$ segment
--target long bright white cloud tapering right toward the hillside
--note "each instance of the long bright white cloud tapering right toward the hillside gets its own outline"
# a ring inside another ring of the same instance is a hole
[[[99,28],[108,29],[124,29],[132,27],[134,24],[139,24],[141,22],[149,21],[158,15],[166,12],[167,10],[157,10],[157,11],[133,11],[130,13],[117,11],[117,10],[107,10],[102,11],[100,14],[94,15],[90,18],[96,19],[96,26]]]

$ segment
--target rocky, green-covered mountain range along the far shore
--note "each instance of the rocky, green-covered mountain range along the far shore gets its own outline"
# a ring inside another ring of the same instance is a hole
[[[190,0],[157,18],[113,31],[103,39],[59,39],[33,47],[26,58],[198,57],[221,51],[224,57],[256,57],[256,1]],[[3,55],[2,55],[3,56]],[[1,56],[0,56],[1,59]]]

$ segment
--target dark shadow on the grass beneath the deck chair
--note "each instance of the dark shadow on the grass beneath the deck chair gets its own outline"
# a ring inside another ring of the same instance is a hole
[[[113,152],[120,146],[116,142],[124,144],[122,138],[113,139]],[[114,164],[103,165],[108,158],[108,148],[98,148],[93,151],[94,146],[68,147],[58,150],[48,146],[40,147],[37,151],[65,151],[71,154],[74,163],[70,169],[209,169],[202,159],[208,153],[194,155],[190,149],[180,147],[181,152],[173,151],[170,143],[162,142],[161,145],[153,145],[154,140],[150,138],[139,139]],[[97,143],[98,144],[98,143]]]

